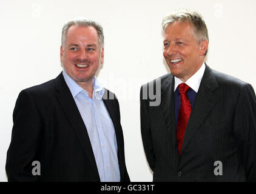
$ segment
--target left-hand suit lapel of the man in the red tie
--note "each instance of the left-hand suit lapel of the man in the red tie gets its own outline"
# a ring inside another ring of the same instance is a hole
[[[175,110],[174,110],[174,76],[169,74],[167,79],[161,83],[161,110],[164,114],[164,120],[169,130],[171,144],[173,149],[176,151],[177,156],[177,139],[175,129]]]

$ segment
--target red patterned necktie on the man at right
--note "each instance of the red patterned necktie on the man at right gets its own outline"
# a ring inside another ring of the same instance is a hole
[[[181,153],[185,129],[191,113],[191,104],[189,102],[189,98],[187,98],[187,90],[189,90],[190,87],[185,83],[178,85],[178,87],[180,90],[180,112],[178,115],[176,138],[178,143],[178,151]]]

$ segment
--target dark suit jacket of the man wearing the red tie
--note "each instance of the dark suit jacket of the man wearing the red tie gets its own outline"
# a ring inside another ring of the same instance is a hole
[[[173,85],[173,75],[161,77],[158,106],[150,106],[141,89],[141,135],[153,181],[256,181],[252,86],[206,65],[179,156]]]

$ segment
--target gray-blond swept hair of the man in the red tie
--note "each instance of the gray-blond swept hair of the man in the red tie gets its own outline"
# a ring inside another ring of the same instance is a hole
[[[200,43],[201,41],[209,42],[208,30],[202,16],[194,10],[180,9],[163,18],[163,31],[166,30],[169,24],[173,22],[189,22],[193,28],[194,38]],[[204,53],[206,56],[207,50]]]

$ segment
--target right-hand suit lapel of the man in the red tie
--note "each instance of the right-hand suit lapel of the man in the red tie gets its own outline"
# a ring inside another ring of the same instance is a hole
[[[187,123],[181,155],[194,133],[198,130],[201,123],[206,118],[207,114],[210,112],[212,107],[214,107],[215,102],[217,102],[218,97],[215,93],[213,93],[217,88],[218,84],[215,76],[213,75],[212,70],[206,65],[206,70],[195,98],[194,106],[189,117],[189,122]]]

